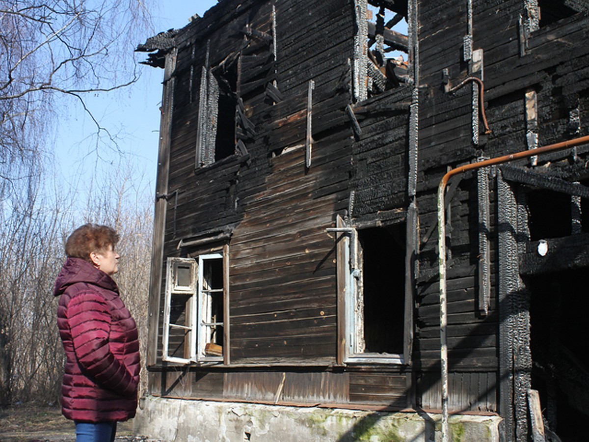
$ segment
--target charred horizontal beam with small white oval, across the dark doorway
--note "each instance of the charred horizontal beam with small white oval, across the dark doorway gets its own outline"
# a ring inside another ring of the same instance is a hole
[[[539,273],[580,269],[589,266],[589,233],[548,238],[528,244],[527,251],[519,255],[519,273]]]

